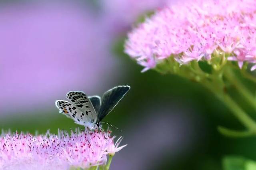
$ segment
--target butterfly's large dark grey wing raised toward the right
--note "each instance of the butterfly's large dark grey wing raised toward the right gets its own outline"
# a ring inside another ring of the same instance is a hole
[[[102,105],[98,113],[98,121],[101,121],[114,107],[117,103],[124,97],[130,86],[117,86],[108,91],[106,91],[102,96]]]

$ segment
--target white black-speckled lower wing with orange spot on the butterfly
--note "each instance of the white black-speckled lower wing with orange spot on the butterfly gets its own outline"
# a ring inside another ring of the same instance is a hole
[[[55,105],[59,109],[60,113],[70,117],[78,125],[90,127],[89,124],[93,123],[92,119],[90,119],[85,113],[80,111],[76,106],[72,105],[68,101],[57,100]]]

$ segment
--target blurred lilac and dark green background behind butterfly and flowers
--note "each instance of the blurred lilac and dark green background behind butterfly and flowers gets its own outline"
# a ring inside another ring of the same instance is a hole
[[[256,160],[256,138],[218,133],[218,125],[243,127],[211,93],[175,75],[140,73],[142,67],[123,53],[126,33],[136,23],[176,2],[0,1],[0,128],[76,128],[58,113],[56,99],[71,90],[102,95],[130,85],[104,119],[123,130],[112,129],[128,144],[114,157],[112,170],[220,170],[226,155]]]

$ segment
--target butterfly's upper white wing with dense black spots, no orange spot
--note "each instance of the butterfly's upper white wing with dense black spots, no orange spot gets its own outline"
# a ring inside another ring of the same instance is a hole
[[[70,91],[66,94],[67,99],[71,101],[80,111],[86,114],[94,123],[97,121],[96,111],[83,91]]]

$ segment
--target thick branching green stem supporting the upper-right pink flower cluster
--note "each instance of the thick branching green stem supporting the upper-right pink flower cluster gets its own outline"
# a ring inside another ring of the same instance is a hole
[[[201,83],[206,89],[209,89],[216,97],[232,111],[233,115],[248,128],[246,131],[235,131],[226,128],[219,128],[222,134],[228,134],[229,136],[249,136],[256,134],[256,122],[247,115],[247,113],[236,103],[225,91],[226,83],[223,79],[223,75],[227,77],[228,82],[236,85],[239,93],[244,96],[244,98],[256,109],[256,100],[251,95],[250,91],[236,79],[236,76],[232,72],[232,67],[224,68],[222,67],[225,63],[225,55],[222,57],[221,65],[217,65],[212,71],[212,74],[204,73],[197,62],[191,62],[190,65],[185,65],[184,67],[178,67],[176,74],[186,77],[191,80],[196,80],[196,82]],[[171,65],[172,63],[170,63]],[[167,63],[167,65],[169,65]],[[169,65],[169,67],[170,67]],[[171,65],[172,66],[172,65]],[[167,68],[168,69],[168,68]],[[174,73],[170,69],[170,73]],[[111,158],[110,158],[111,161]]]

